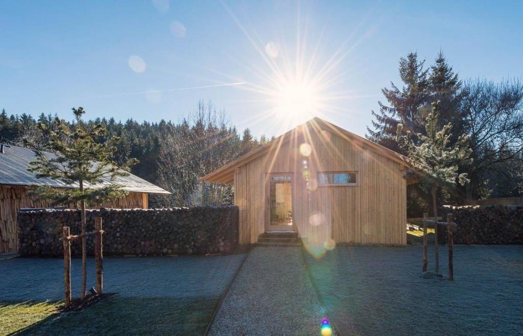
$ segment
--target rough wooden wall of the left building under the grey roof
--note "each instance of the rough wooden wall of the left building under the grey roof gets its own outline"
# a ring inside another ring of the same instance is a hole
[[[38,202],[28,196],[27,187],[0,186],[0,254],[18,251],[16,215],[20,208],[49,206],[47,201]],[[74,204],[69,207],[73,208]],[[101,204],[99,207],[147,208],[147,194],[131,192],[125,198]]]

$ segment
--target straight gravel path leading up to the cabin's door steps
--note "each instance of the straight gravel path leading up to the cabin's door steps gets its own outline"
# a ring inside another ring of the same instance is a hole
[[[217,312],[210,335],[319,335],[325,310],[301,247],[256,247]]]

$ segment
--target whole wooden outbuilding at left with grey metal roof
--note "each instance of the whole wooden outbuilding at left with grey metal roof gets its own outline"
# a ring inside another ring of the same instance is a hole
[[[52,156],[52,154],[48,154]],[[35,159],[32,150],[17,146],[3,146],[0,149],[0,254],[18,251],[18,225],[16,216],[20,208],[49,207],[48,201],[36,201],[27,194],[31,185],[46,184],[55,188],[71,188],[65,183],[43,178],[38,179],[27,171],[29,162]],[[117,177],[114,181],[104,179],[102,184],[115,183],[129,194],[119,200],[100,204],[99,207],[111,208],[148,208],[149,194],[169,194],[168,191],[152,183],[129,175]],[[73,208],[74,204],[68,207]]]

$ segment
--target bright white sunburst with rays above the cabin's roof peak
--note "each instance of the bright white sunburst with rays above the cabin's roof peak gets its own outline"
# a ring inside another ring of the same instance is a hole
[[[326,54],[322,33],[308,30],[308,19],[301,23],[301,18],[308,18],[308,15],[302,16],[298,6],[295,43],[288,39],[288,36],[293,39],[293,34],[274,36],[274,40],[264,43],[258,33],[249,33],[229,7],[222,5],[264,61],[260,66],[249,59],[247,75],[252,75],[254,80],[228,75],[238,82],[247,82],[238,88],[257,94],[250,100],[257,111],[245,115],[245,124],[263,122],[268,132],[279,134],[314,117],[325,118],[333,113],[345,115],[346,107],[342,109],[333,104],[352,98],[353,94],[335,91],[346,75],[346,70],[340,70],[338,65],[359,40],[353,41],[351,34],[337,50],[332,54],[328,50],[329,54]],[[311,38],[317,41],[311,44]]]

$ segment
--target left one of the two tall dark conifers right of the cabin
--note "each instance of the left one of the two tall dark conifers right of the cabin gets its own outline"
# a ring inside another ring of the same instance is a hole
[[[401,123],[405,130],[413,134],[423,132],[423,114],[428,106],[429,81],[425,60],[418,61],[415,52],[400,59],[400,77],[404,83],[400,90],[391,82],[391,88],[382,92],[390,106],[381,101],[379,113],[372,111],[376,120],[372,121],[374,130],[367,128],[368,138],[393,150],[400,150],[395,141],[397,125]]]

